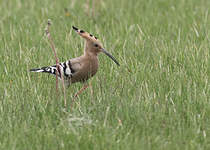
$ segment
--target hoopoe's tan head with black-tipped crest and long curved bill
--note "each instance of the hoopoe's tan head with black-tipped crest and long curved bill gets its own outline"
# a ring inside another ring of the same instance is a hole
[[[84,30],[80,30],[74,26],[72,28],[86,40],[85,45],[85,53],[91,53],[93,55],[97,55],[100,52],[106,54],[109,58],[111,58],[118,66],[120,65],[118,61],[108,52],[106,51],[101,42],[98,40],[97,37],[93,36],[92,34],[85,32]]]

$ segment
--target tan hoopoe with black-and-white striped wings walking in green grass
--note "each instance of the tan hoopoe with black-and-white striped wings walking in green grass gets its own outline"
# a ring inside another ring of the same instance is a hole
[[[72,28],[85,39],[84,54],[59,63],[58,70],[56,65],[53,65],[30,69],[31,72],[44,72],[53,75],[56,75],[57,72],[59,79],[63,76],[65,84],[69,87],[72,83],[85,82],[96,74],[99,67],[98,54],[101,52],[110,57],[118,66],[120,65],[118,61],[103,48],[101,42],[95,36],[74,26],[72,26]]]

